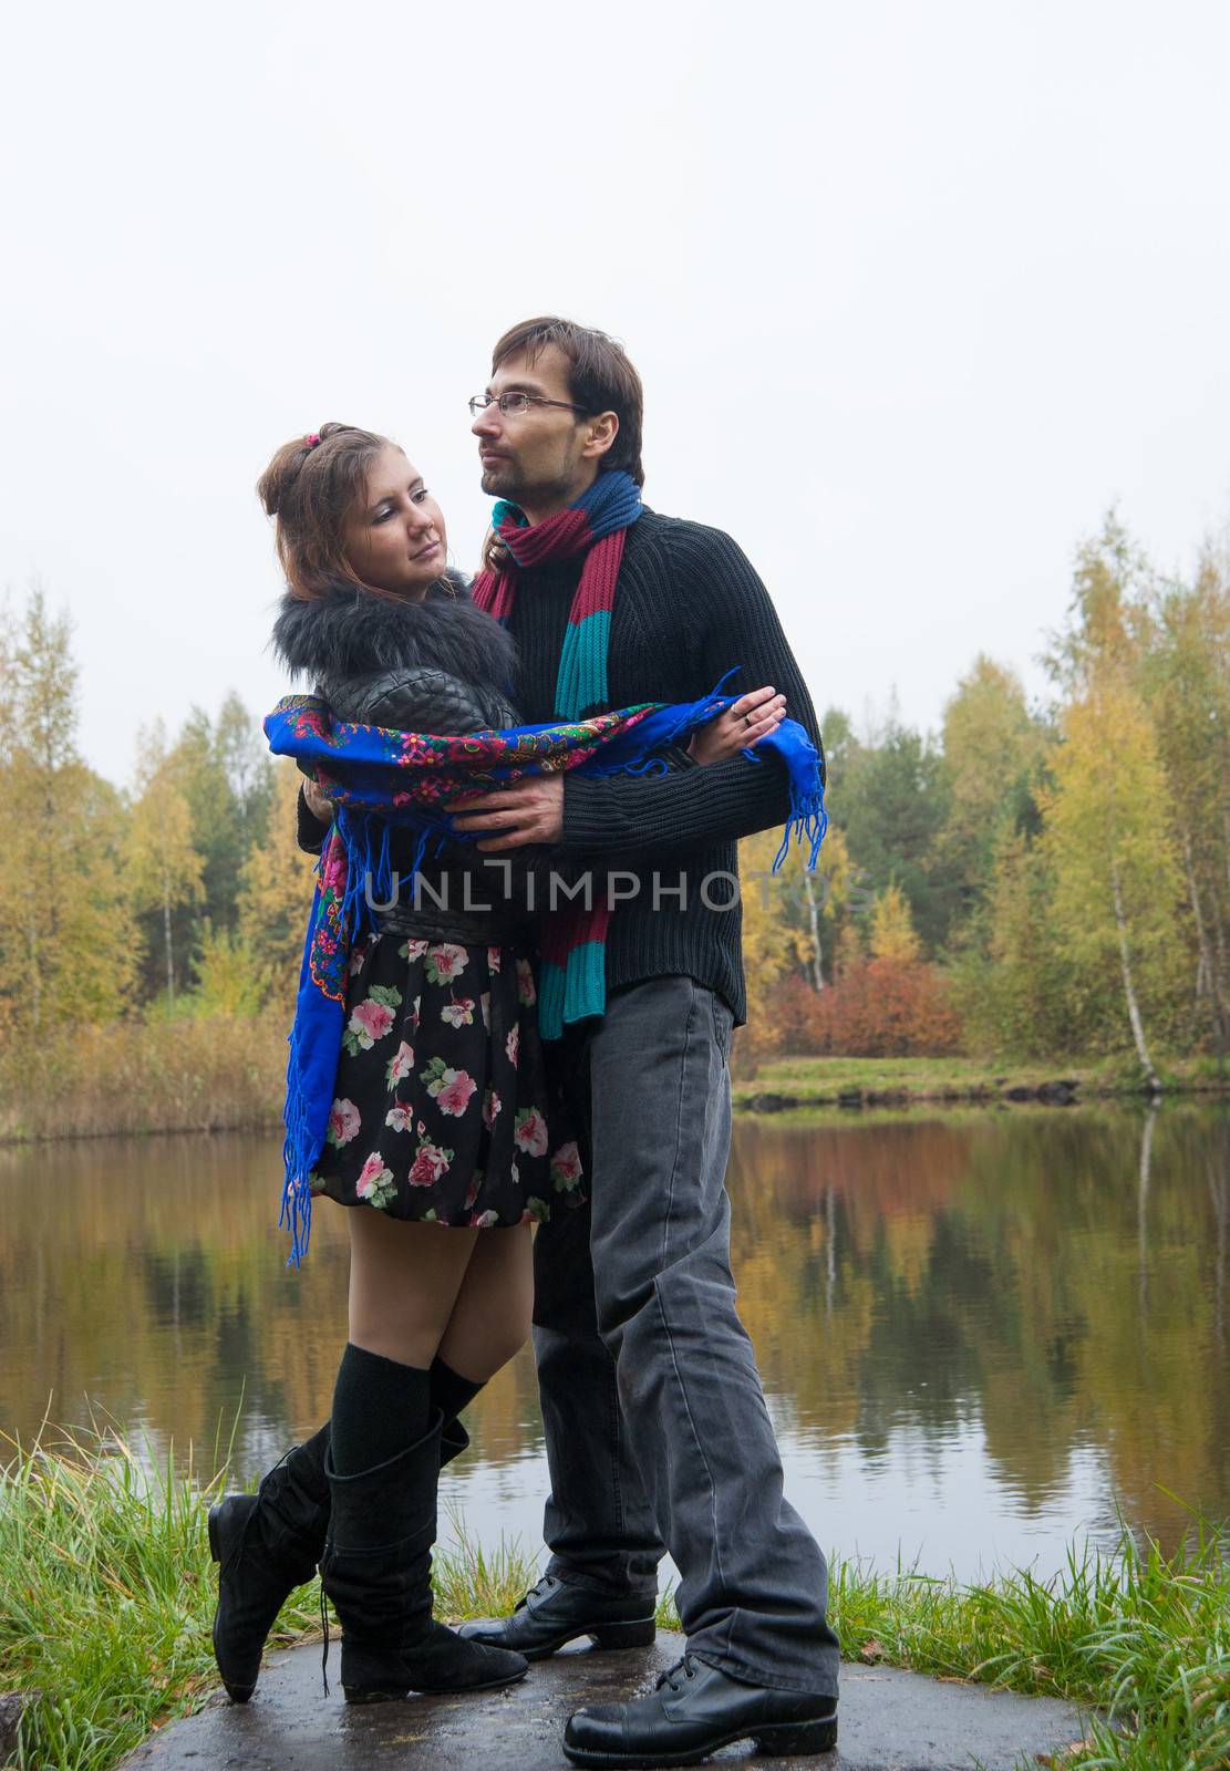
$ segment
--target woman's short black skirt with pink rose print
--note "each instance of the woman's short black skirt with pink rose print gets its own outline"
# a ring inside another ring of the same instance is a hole
[[[312,1190],[477,1229],[583,1201],[523,947],[374,933],[354,946],[333,1110]]]

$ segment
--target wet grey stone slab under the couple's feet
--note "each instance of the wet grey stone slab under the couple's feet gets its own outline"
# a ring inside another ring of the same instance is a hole
[[[564,1723],[581,1704],[619,1702],[682,1652],[659,1631],[652,1649],[569,1651],[537,1661],[521,1684],[477,1697],[413,1697],[347,1707],[321,1690],[321,1651],[271,1654],[246,1705],[218,1697],[124,1760],[140,1771],[565,1771]],[[330,1656],[337,1670],[337,1651]],[[1051,1698],[946,1684],[890,1667],[842,1668],[840,1746],[767,1760],[751,1743],[709,1764],[780,1762],[799,1771],[1017,1771],[1083,1737],[1079,1714]]]

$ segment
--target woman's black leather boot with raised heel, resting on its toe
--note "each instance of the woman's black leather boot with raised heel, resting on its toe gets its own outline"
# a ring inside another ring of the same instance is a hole
[[[326,1422],[269,1470],[255,1495],[227,1495],[209,1509],[209,1550],[218,1562],[213,1651],[236,1704],[255,1691],[264,1638],[324,1553],[328,1442]]]

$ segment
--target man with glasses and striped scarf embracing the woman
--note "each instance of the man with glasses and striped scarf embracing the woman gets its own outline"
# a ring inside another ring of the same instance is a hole
[[[819,744],[773,604],[736,544],[640,507],[642,386],[613,340],[560,319],[514,326],[471,406],[482,487],[521,514],[502,524],[512,560],[477,600],[518,643],[526,721],[688,701],[739,666],[739,687],[776,685]],[[615,553],[596,538],[603,522]],[[599,570],[587,579],[597,547],[613,584]],[[555,1215],[535,1243],[551,1560],[510,1619],[466,1626],[530,1658],[583,1635],[650,1642],[670,1550],[688,1654],[652,1695],[578,1711],[565,1732],[576,1764],[695,1762],[746,1737],[821,1752],[837,1739],[828,1574],[782,1495],[736,1314],[723,1185],[727,1057],[744,1018],[736,841],[789,811],[773,758],[700,769],[681,754],[666,774],[535,776],[459,816],[487,832],[493,855],[546,843],[571,878],[592,864],[599,894],[615,870],[604,1013],[558,1047],[590,1204]]]

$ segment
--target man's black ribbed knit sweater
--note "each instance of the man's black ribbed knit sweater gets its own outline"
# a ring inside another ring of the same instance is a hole
[[[510,630],[518,645],[514,701],[526,721],[553,717],[564,629],[581,572],[567,560],[518,576]],[[819,746],[815,712],[769,595],[739,547],[720,530],[645,510],[627,531],[608,652],[610,707],[691,701],[732,666],[730,692],[773,684],[785,710]],[[587,708],[599,712],[599,708]],[[606,937],[606,986],[682,974],[707,985],[746,1018],[743,914],[736,896],[736,841],[785,824],[785,769],[771,754],[697,767],[686,758],[665,776],[564,777],[560,854],[615,880],[619,909]],[[564,871],[564,870],[562,870]],[[721,878],[727,875],[727,878]],[[682,886],[684,896],[679,887]],[[702,898],[702,886],[711,905]]]

